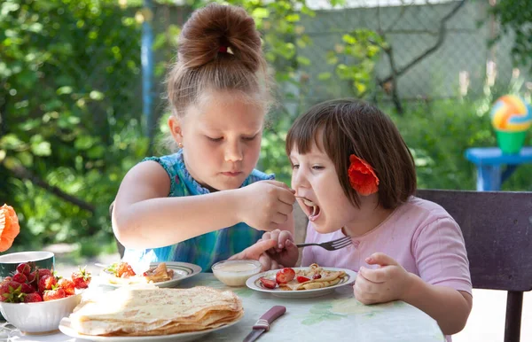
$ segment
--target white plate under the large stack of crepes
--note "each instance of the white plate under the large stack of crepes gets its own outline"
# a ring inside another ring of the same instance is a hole
[[[91,336],[91,335],[83,335],[78,333],[76,330],[72,329],[70,327],[70,318],[65,317],[61,320],[59,323],[59,330],[61,330],[62,333],[64,333],[66,336],[70,336],[71,338],[81,338],[81,339],[87,339],[90,341],[102,341],[102,342],[167,342],[168,340],[171,341],[179,341],[179,342],[185,342],[185,341],[195,341],[199,338],[213,332],[216,330],[222,330],[225,328],[231,327],[231,325],[239,323],[239,321],[244,318],[244,315],[242,315],[237,321],[231,322],[229,324],[223,325],[221,327],[217,327],[214,329],[208,329],[208,330],[201,330],[201,331],[194,331],[194,332],[180,332],[178,334],[172,334],[172,335],[156,335],[156,336]]]

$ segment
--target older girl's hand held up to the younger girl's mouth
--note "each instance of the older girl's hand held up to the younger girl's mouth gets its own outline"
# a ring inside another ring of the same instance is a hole
[[[295,191],[285,183],[261,181],[237,191],[239,221],[246,222],[254,229],[278,229],[293,211]]]

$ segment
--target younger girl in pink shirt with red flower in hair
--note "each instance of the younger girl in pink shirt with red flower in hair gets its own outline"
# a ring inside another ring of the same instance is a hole
[[[462,330],[473,300],[464,238],[441,206],[413,196],[414,161],[392,120],[362,102],[325,102],[293,123],[286,152],[298,203],[309,216],[306,242],[345,236],[353,242],[333,252],[305,247],[302,266],[353,269],[362,303],[400,299],[432,316],[444,334]],[[262,240],[275,243],[236,257],[295,265],[299,252],[290,232],[267,232]]]

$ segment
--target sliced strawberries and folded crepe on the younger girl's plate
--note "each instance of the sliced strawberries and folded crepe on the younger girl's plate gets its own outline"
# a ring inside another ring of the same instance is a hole
[[[278,271],[275,280],[262,276],[259,281],[267,289],[279,288],[285,291],[314,290],[339,284],[343,277],[347,276],[344,271],[333,271],[312,264],[309,268],[294,270],[283,268]]]

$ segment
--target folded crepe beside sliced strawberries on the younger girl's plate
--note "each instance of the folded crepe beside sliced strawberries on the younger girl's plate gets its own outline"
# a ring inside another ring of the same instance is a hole
[[[319,275],[319,277],[314,279],[317,275]],[[298,276],[304,276],[310,280],[308,282],[299,283],[297,281]],[[347,276],[344,271],[329,271],[321,268],[317,264],[312,264],[309,268],[298,269],[295,271],[295,277],[293,280],[286,284],[279,284],[279,288],[286,291],[321,289],[339,284],[344,276]]]

